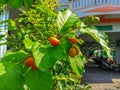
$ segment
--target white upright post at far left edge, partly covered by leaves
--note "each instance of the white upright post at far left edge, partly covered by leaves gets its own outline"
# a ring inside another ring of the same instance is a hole
[[[0,22],[8,19],[9,19],[9,10],[8,8],[5,8],[4,13],[0,15]],[[5,35],[7,32],[8,32],[8,27],[5,26],[5,24],[0,24],[0,35]],[[6,37],[7,36],[5,36],[2,40],[0,40],[0,43],[4,43],[6,41]],[[5,44],[0,45],[0,59],[3,58],[6,51],[7,51],[7,45]]]

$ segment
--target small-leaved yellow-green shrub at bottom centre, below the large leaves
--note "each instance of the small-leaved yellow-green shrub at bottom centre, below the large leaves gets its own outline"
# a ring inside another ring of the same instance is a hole
[[[80,65],[79,65],[80,67]],[[53,90],[90,90],[89,85],[80,85],[82,74],[77,75],[70,66],[68,59],[59,60],[53,67]]]

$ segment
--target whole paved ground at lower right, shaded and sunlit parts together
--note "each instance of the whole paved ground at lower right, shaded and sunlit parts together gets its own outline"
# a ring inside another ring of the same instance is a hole
[[[120,90],[120,72],[102,70],[92,60],[85,66],[82,84],[89,84],[92,90]]]

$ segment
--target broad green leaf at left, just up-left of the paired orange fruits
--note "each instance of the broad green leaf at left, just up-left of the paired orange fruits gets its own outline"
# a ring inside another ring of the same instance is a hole
[[[20,51],[17,51],[17,52],[8,52],[2,59],[2,61],[4,63],[7,63],[7,62],[21,62],[23,61],[26,57],[28,56],[28,54],[23,51],[23,50],[20,50]]]

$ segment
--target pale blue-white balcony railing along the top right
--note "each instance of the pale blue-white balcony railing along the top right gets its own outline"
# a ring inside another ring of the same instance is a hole
[[[120,5],[120,0],[77,0],[77,1],[71,1],[69,7],[72,10],[85,8],[88,6],[94,6],[94,5],[102,5],[102,4],[108,4],[108,5]]]

